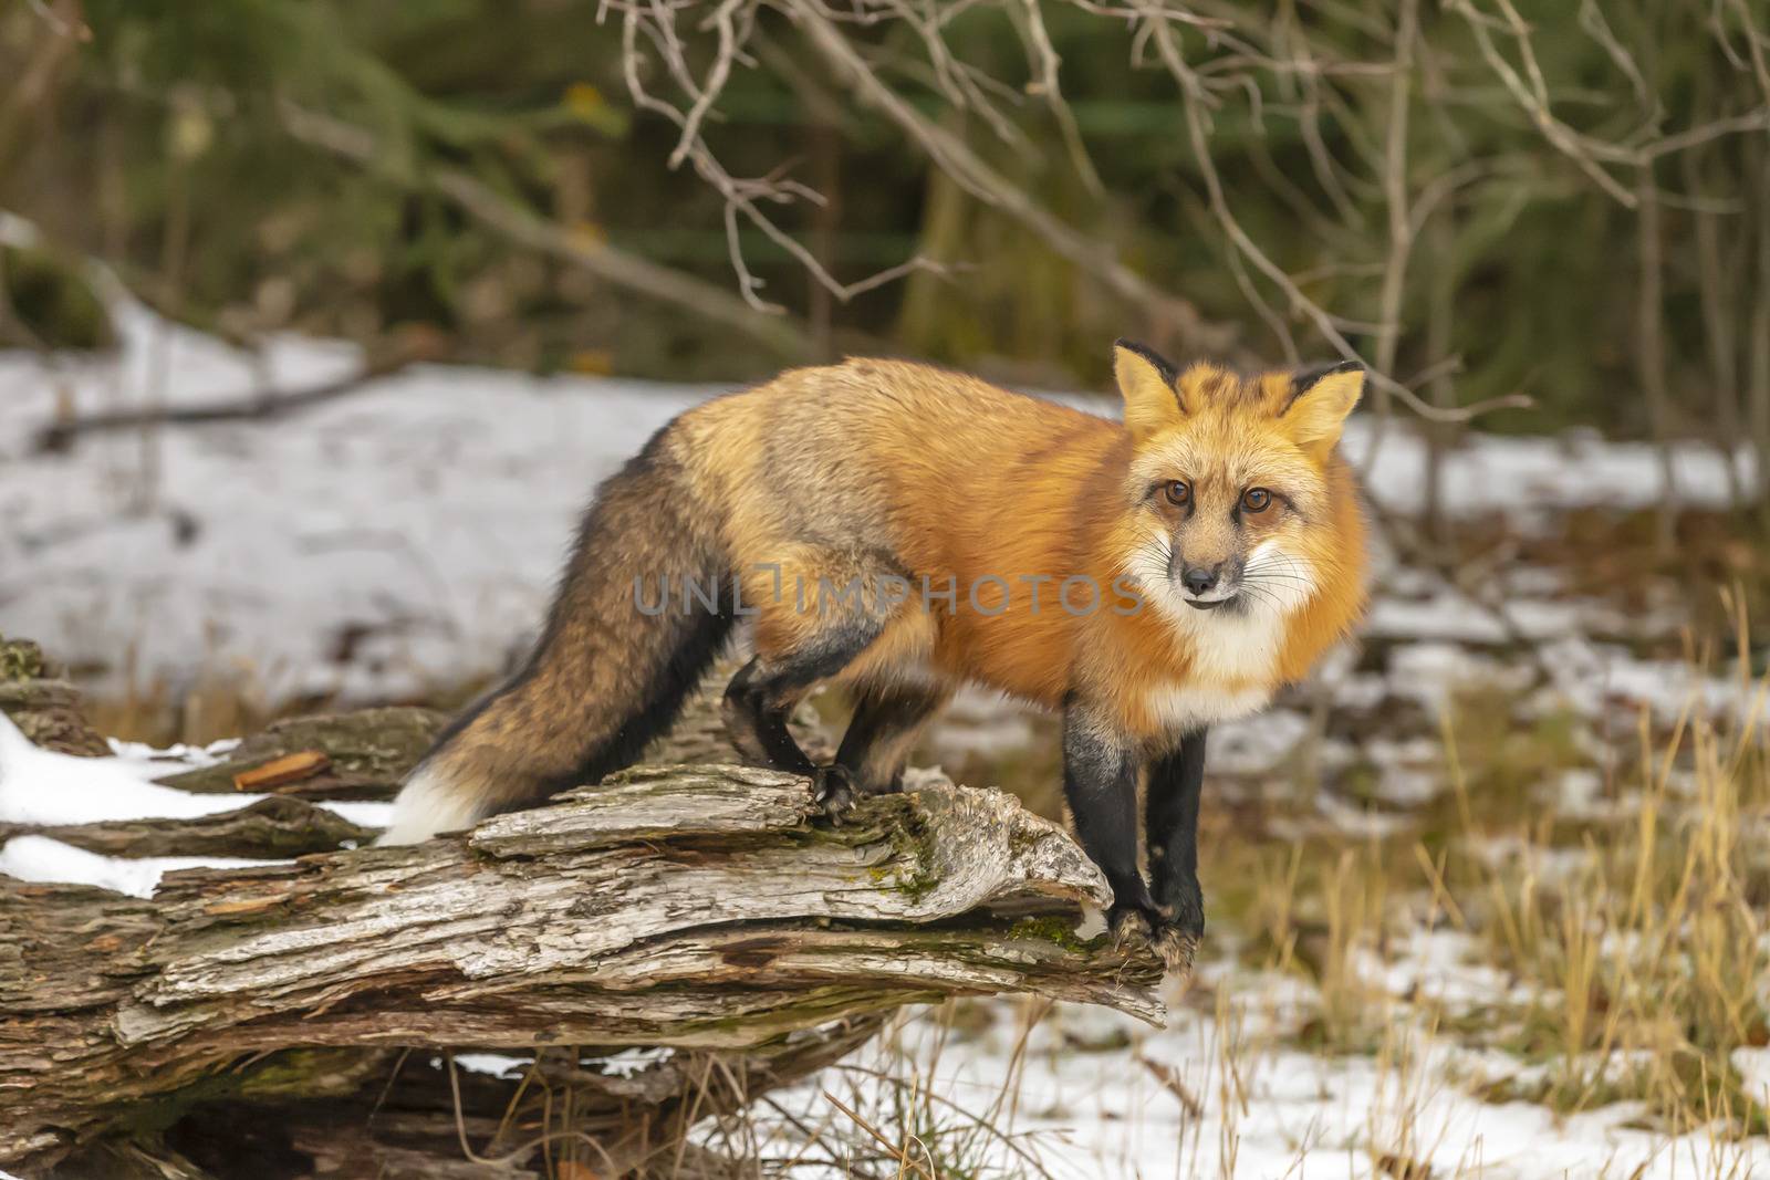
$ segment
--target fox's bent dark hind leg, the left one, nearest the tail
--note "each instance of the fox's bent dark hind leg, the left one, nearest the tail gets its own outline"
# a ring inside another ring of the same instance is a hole
[[[876,637],[876,626],[830,628],[784,656],[756,656],[726,686],[724,715],[731,743],[747,757],[809,777],[818,803],[832,816],[853,803],[848,773],[841,766],[812,762],[786,720],[807,688],[841,672]]]

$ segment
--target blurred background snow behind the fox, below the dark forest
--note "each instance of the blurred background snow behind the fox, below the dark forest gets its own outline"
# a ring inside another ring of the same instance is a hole
[[[198,405],[358,364],[350,347],[297,338],[253,359],[129,308],[120,327],[115,364],[0,354],[0,628],[113,688],[221,669],[271,699],[388,699],[497,670],[531,633],[595,483],[724,391],[421,366],[283,421],[34,455],[57,407]],[[1412,511],[1423,448],[1393,426],[1372,458],[1374,433],[1354,421],[1347,451],[1379,504]],[[1726,501],[1712,449],[1682,449],[1676,471],[1685,502]],[[1648,448],[1597,439],[1476,437],[1446,476],[1451,511],[1524,524],[1658,497]],[[1443,596],[1379,605],[1375,624],[1398,624],[1398,610],[1428,616],[1409,626],[1494,626]],[[1528,621],[1570,630],[1552,609]]]

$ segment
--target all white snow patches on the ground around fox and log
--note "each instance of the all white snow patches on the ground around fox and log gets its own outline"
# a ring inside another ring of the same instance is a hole
[[[202,403],[267,379],[301,387],[358,363],[347,347],[304,340],[276,341],[262,361],[248,361],[140,311],[122,326],[129,347],[117,366],[46,370],[0,354],[0,632],[41,640],[101,692],[223,669],[267,697],[368,701],[425,695],[496,670],[535,624],[595,481],[673,414],[719,393],[419,368],[269,425],[181,428],[152,441],[112,435],[65,456],[32,453],[30,437],[58,403],[81,412],[147,398]],[[1370,423],[1354,423],[1349,451],[1374,499],[1405,515],[1420,494],[1423,451],[1398,426],[1382,432],[1375,455],[1372,439]],[[1712,449],[1678,451],[1676,479],[1685,502],[1726,501],[1724,464]],[[1650,506],[1662,495],[1651,451],[1597,439],[1476,437],[1453,456],[1446,488],[1453,511],[1503,511],[1519,531],[1554,529],[1572,506]],[[1761,704],[1751,683],[1724,669],[1697,674],[1662,658],[1666,637],[1689,617],[1674,598],[1625,609],[1570,593],[1561,570],[1522,563],[1494,570],[1480,600],[1393,559],[1379,589],[1365,658],[1345,653],[1308,690],[1212,736],[1212,805],[1260,816],[1235,828],[1237,839],[1278,849],[1324,833],[1352,849],[1389,839],[1395,851],[1384,854],[1411,856],[1405,833],[1451,791],[1434,718],[1476,688],[1504,693],[1501,708],[1520,731],[1574,718],[1577,759],[1529,770],[1528,807],[1589,823],[1602,840],[1600,824],[1628,819],[1639,791],[1616,787],[1600,734],[1618,722],[1627,729],[1643,706],[1658,732],[1690,708],[1736,724]],[[1005,780],[1016,759],[1048,754],[1048,745],[1041,718],[966,695],[933,754],[949,770]],[[113,759],[57,759],[25,748],[0,724],[0,823],[198,814],[251,801],[149,785],[216,752],[119,745]],[[1310,782],[1324,784],[1308,794],[1297,785],[1304,752]],[[1674,785],[1685,791],[1683,780]],[[373,824],[377,816],[350,819]],[[1579,858],[1561,846],[1528,853]],[[1503,854],[1496,842],[1494,856]],[[177,867],[117,862],[42,837],[0,847],[0,874],[138,895]],[[1212,881],[1209,870],[1207,853],[1205,890],[1216,904],[1214,890],[1237,883]],[[1212,927],[1216,957],[1175,998],[1166,1030],[1060,1007],[1020,1046],[1018,1008],[982,1005],[982,1019],[954,1030],[938,1060],[931,1046],[940,1026],[926,1014],[906,1024],[896,1049],[874,1047],[862,1060],[883,1060],[897,1076],[926,1074],[959,1107],[989,1109],[1000,1099],[998,1130],[1030,1138],[986,1136],[972,1161],[986,1168],[975,1175],[1030,1171],[1018,1152],[1055,1176],[1745,1176],[1770,1168],[1763,1138],[1731,1141],[1719,1123],[1666,1134],[1648,1125],[1639,1102],[1558,1116],[1540,1102],[1490,1100],[1492,1083],[1542,1076],[1542,1056],[1453,1037],[1434,1021],[1522,1003],[1524,984],[1494,969],[1469,934],[1432,922],[1374,931],[1349,943],[1359,950],[1349,968],[1366,989],[1359,994],[1377,998],[1381,1035],[1365,1051],[1308,1047],[1299,1026],[1326,1001],[1326,987],[1250,962],[1239,952],[1251,927],[1223,922]],[[1735,1051],[1733,1067],[1747,1093],[1766,1093],[1763,1049]],[[887,1102],[880,1086],[834,1070],[791,1095],[807,1122],[834,1116],[823,1090],[857,1109]]]

